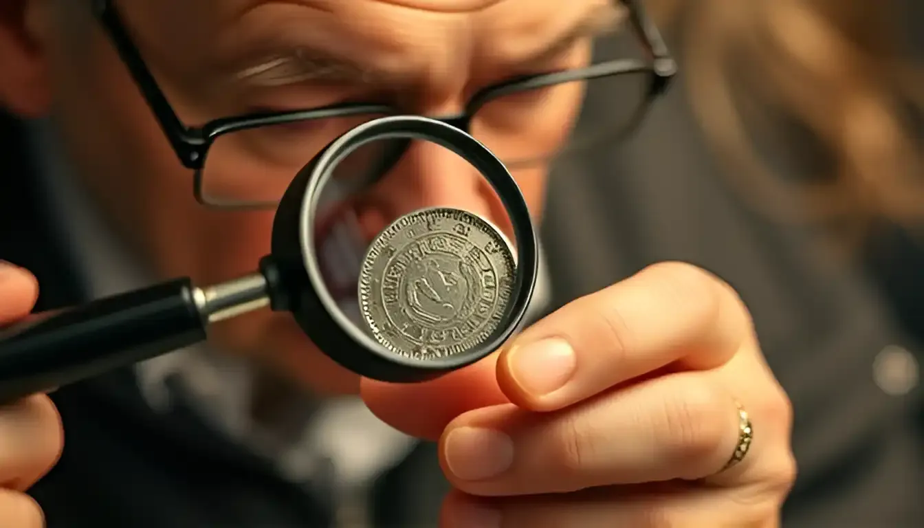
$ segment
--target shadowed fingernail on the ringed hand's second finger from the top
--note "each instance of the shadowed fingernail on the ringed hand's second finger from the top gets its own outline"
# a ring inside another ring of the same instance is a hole
[[[446,465],[462,480],[484,480],[504,473],[514,461],[514,441],[491,429],[458,427],[446,436]]]

